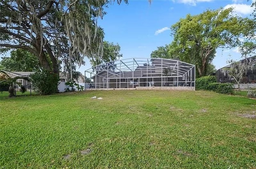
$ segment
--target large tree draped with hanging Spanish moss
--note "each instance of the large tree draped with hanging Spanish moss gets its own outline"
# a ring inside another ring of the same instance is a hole
[[[106,14],[104,8],[110,2],[0,0],[0,51],[28,50],[38,58],[42,68],[58,75],[58,60],[72,57],[81,64],[84,56],[102,55],[104,33],[97,26],[97,19]]]

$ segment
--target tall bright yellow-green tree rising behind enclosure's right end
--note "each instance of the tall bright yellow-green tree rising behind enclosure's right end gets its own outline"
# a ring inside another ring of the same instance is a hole
[[[217,48],[238,46],[241,37],[255,31],[252,20],[231,15],[232,10],[206,10],[180,19],[171,28],[174,41],[170,44],[169,54],[195,64],[198,76],[205,76]]]

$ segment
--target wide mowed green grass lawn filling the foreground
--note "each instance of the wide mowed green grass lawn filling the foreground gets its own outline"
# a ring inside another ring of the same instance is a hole
[[[209,91],[1,99],[0,166],[255,169],[255,114],[255,99]]]

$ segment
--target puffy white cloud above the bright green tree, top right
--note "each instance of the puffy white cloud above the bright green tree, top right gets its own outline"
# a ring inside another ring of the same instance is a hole
[[[234,14],[238,15],[248,15],[253,12],[253,8],[247,4],[228,4],[224,9],[234,8]]]

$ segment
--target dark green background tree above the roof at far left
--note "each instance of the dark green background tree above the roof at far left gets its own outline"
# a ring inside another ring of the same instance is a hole
[[[17,49],[11,52],[10,57],[2,57],[0,67],[6,71],[34,72],[39,70],[40,64],[28,50]]]

